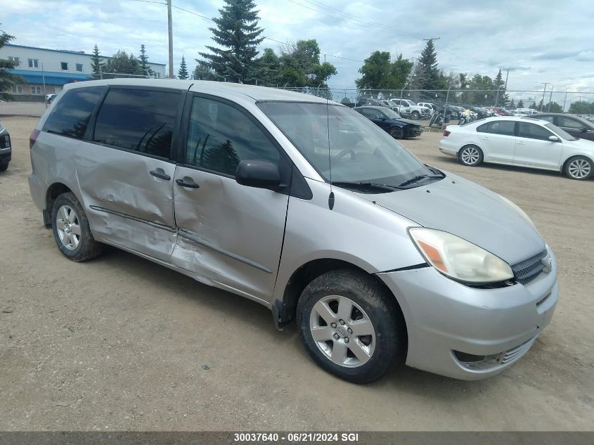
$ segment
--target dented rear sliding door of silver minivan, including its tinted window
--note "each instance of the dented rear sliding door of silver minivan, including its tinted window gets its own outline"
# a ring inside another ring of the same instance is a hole
[[[77,176],[98,240],[169,261],[175,242],[169,159],[179,91],[110,87]]]

